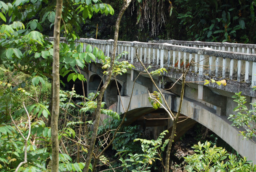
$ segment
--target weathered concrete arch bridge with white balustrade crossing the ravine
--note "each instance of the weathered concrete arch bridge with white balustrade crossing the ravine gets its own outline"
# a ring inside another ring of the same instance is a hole
[[[84,43],[84,51],[88,44],[98,47],[105,55],[111,56],[113,40],[95,40],[81,38],[77,42]],[[256,93],[252,86],[256,85],[256,45],[191,42],[176,40],[158,40],[155,42],[124,42],[118,41],[117,54],[128,51],[128,55],[121,57],[121,61],[128,61],[135,66],[134,70],[128,70],[127,74],[117,76],[121,97],[118,96],[114,79],[111,80],[105,94],[104,101],[108,108],[117,113],[124,113],[121,101],[126,108],[131,96],[132,85],[143,67],[136,57],[138,49],[139,58],[145,66],[151,65],[151,70],[165,67],[167,73],[163,76],[154,76],[158,87],[163,91],[171,110],[177,112],[180,100],[181,85],[177,84],[169,89],[181,76],[181,69],[187,66],[194,57],[197,65],[192,66],[186,76],[184,101],[181,113],[183,117],[190,119],[180,123],[177,128],[178,136],[184,134],[195,122],[199,122],[212,130],[225,140],[242,156],[256,162],[256,144],[251,140],[242,140],[238,136],[236,127],[231,126],[227,119],[233,113],[236,103],[231,98],[235,92],[243,92],[247,97],[247,106],[255,102]],[[87,79],[87,93],[95,92],[101,80],[105,81],[101,66],[97,63],[89,64],[82,69],[82,74]],[[205,79],[216,81],[226,79],[227,85],[210,83],[204,86]],[[154,110],[148,101],[148,91],[152,93],[156,88],[146,75],[141,75],[135,81],[132,103],[127,114],[126,124],[141,124],[154,127],[153,136],[158,136],[163,130],[170,130],[172,123],[163,109]],[[78,92],[79,93],[79,92]]]

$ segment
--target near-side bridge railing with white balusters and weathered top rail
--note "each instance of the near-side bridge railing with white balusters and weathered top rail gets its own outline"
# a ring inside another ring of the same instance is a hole
[[[111,56],[113,40],[81,38],[77,40],[78,42],[85,43],[84,51],[87,44],[90,44],[101,49],[105,55]],[[237,48],[240,49],[240,47]],[[138,49],[139,58],[147,64],[181,69],[183,65],[187,67],[193,57],[196,65],[190,71],[198,73],[199,76],[215,76],[256,85],[256,76],[254,75],[256,74],[256,54],[169,43],[117,42],[117,55],[123,51],[128,51],[128,55],[124,55],[122,59],[129,60],[131,63],[138,62],[136,49]]]

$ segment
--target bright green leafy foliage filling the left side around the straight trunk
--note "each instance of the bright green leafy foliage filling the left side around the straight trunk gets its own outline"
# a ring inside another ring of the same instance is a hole
[[[79,39],[77,31],[81,30],[81,23],[85,24],[86,19],[90,19],[93,14],[113,15],[114,10],[109,4],[99,0],[63,1],[62,9],[61,34],[66,40],[60,43],[60,74],[67,75],[68,81],[71,79],[85,81],[84,76],[75,68],[85,68],[87,64],[95,62],[96,58],[105,60],[105,57],[102,50],[97,47],[75,42],[76,38]],[[28,122],[24,115],[26,113],[21,106],[24,100],[32,124],[28,141],[28,163],[19,171],[49,170],[47,161],[52,158],[51,145],[49,145],[51,129],[46,124],[50,122],[48,100],[51,85],[48,83],[48,78],[52,78],[53,42],[48,40],[52,35],[43,34],[45,33],[43,30],[46,29],[43,26],[50,23],[47,29],[52,28],[55,10],[55,1],[51,3],[48,3],[48,0],[14,0],[12,3],[0,1],[0,172],[14,171],[18,164],[24,161],[24,139],[10,120],[11,115],[22,134],[28,135]],[[86,46],[85,52],[83,52],[84,46]],[[12,74],[6,77],[6,73]],[[21,73],[26,74],[26,79],[16,82],[15,77],[19,78]],[[86,103],[69,103],[71,94],[76,98],[83,98],[72,92],[61,91],[60,108],[67,110],[69,115],[72,116],[71,113],[78,111],[76,107],[87,108],[85,111],[80,111],[83,115],[84,112],[95,109],[97,102],[92,100]],[[67,109],[69,105],[72,107],[71,110]],[[104,105],[102,103],[102,108]],[[102,109],[102,113],[119,118],[119,115],[111,110]],[[76,120],[68,121],[67,126],[62,126],[59,130],[59,138],[63,136],[63,138],[75,139],[76,125],[92,123],[90,120],[83,122],[82,119],[74,116],[69,117],[69,120],[74,118]],[[69,155],[59,154],[59,157],[59,171],[78,172],[85,166],[85,163],[72,162]]]

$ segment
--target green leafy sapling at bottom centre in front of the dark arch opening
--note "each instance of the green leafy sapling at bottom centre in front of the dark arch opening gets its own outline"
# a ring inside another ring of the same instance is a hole
[[[164,135],[168,130],[163,131],[157,140],[146,140],[137,138],[134,141],[141,142],[141,148],[143,153],[128,154],[128,159],[119,159],[122,162],[123,171],[129,170],[132,172],[150,172],[151,165],[156,159],[161,160],[161,153],[164,151],[169,140],[162,142]]]

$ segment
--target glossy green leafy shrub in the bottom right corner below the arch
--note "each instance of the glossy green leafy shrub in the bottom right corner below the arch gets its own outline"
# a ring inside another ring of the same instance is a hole
[[[228,154],[222,147],[210,147],[211,143],[198,142],[192,148],[194,155],[184,157],[187,162],[185,169],[188,172],[254,172],[256,166],[246,161],[246,158],[238,158],[236,155]]]

